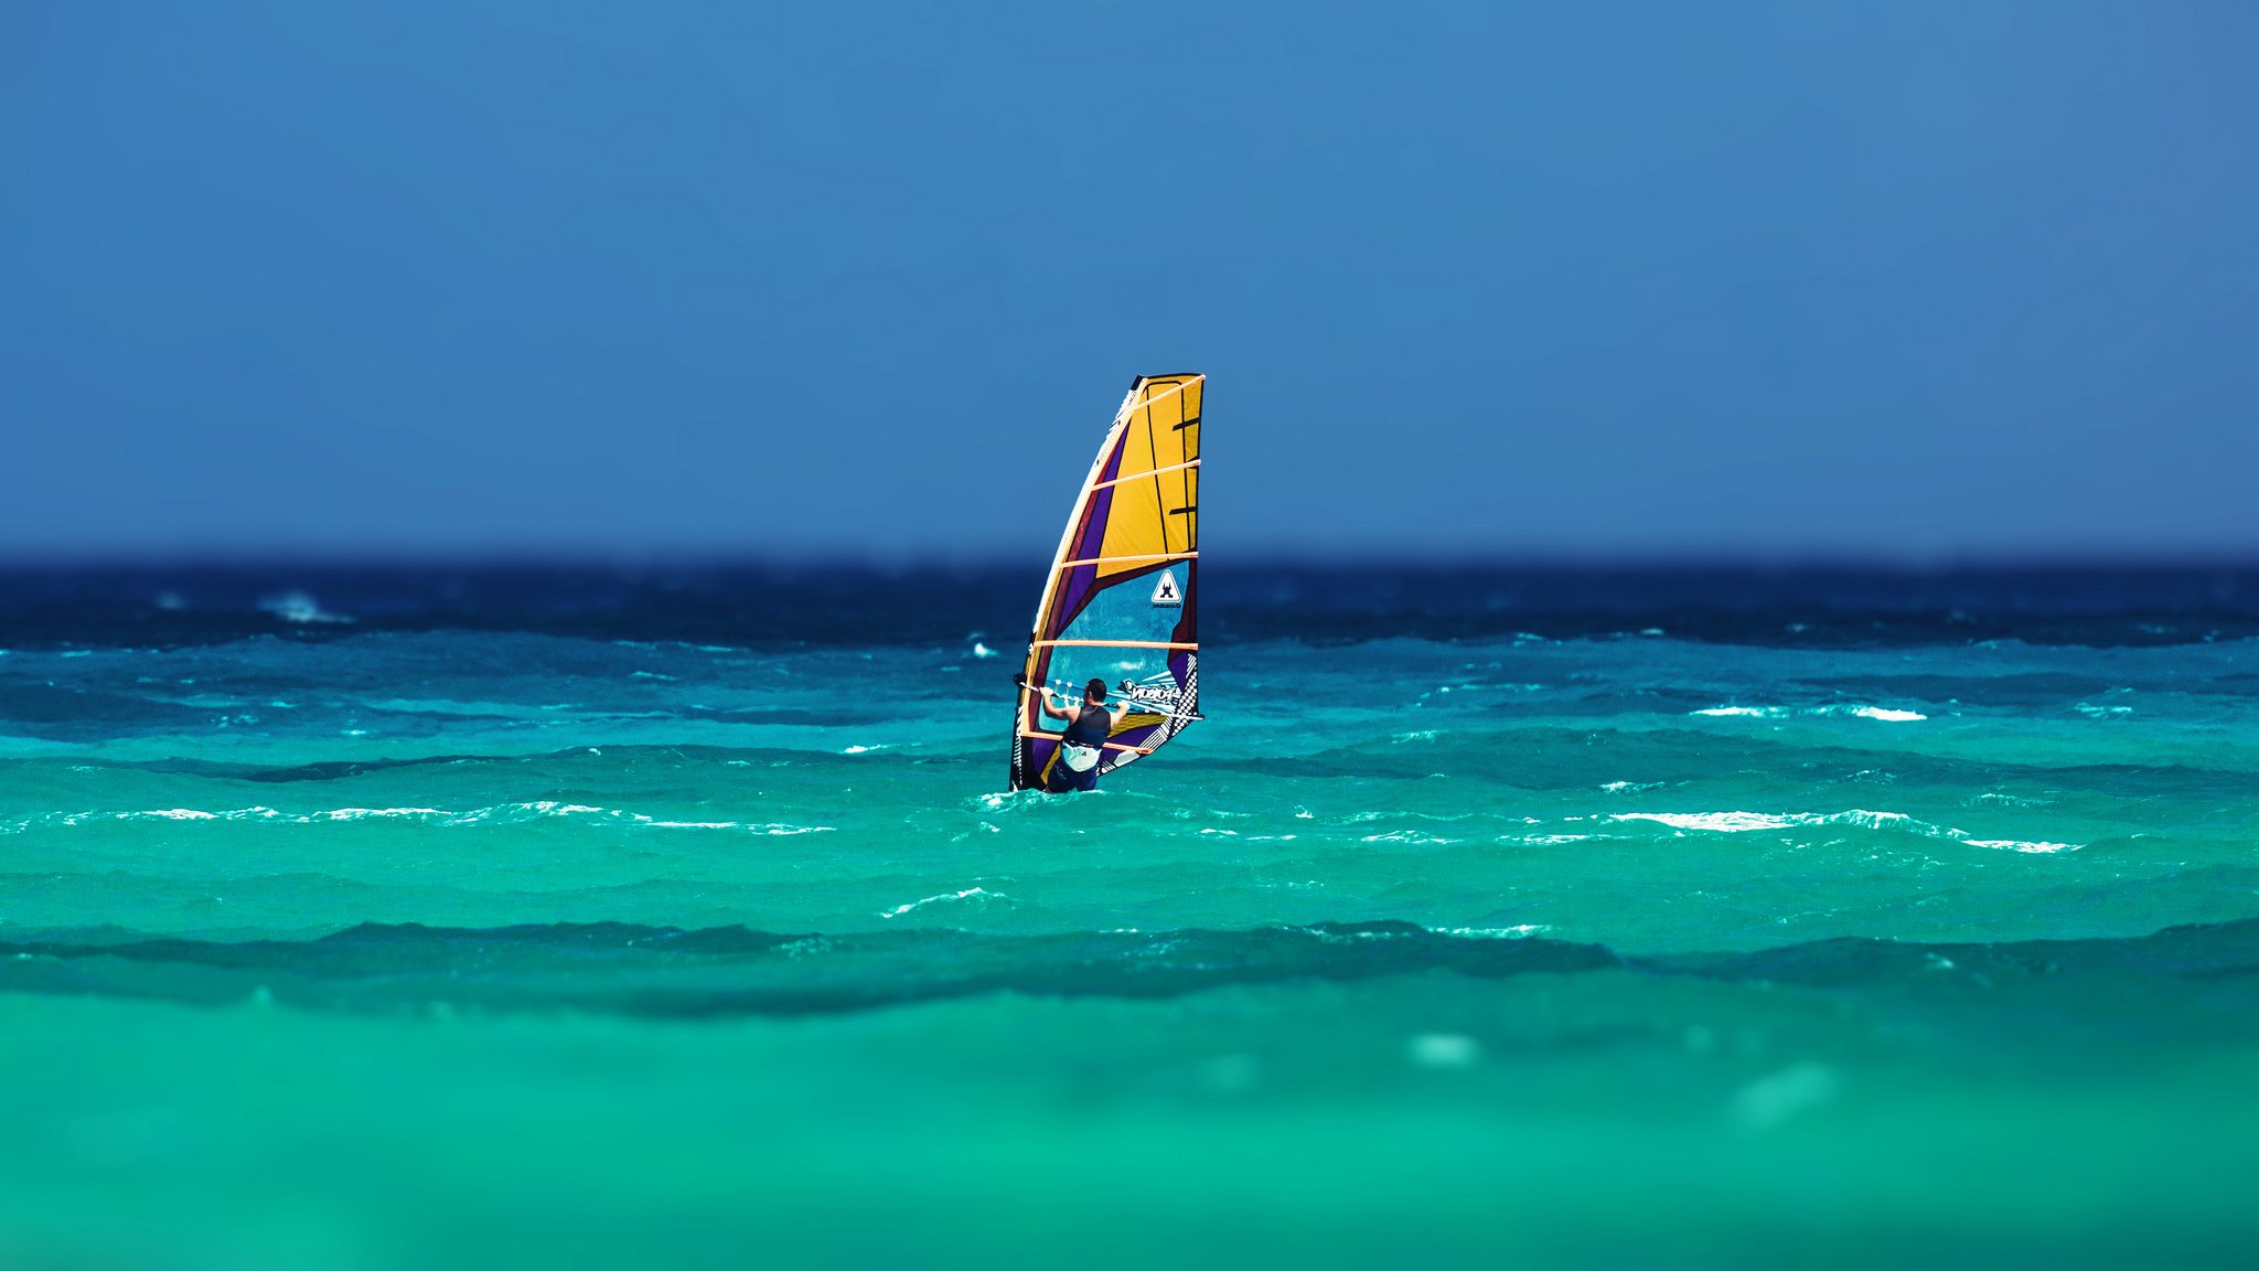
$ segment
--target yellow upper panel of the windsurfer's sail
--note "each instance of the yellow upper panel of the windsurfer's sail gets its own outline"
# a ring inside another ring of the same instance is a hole
[[[1200,547],[1200,389],[1195,375],[1145,380],[1123,412],[1118,482],[1098,577],[1150,570],[1157,556]],[[1148,477],[1148,479],[1134,479]],[[1139,559],[1143,556],[1143,559]]]

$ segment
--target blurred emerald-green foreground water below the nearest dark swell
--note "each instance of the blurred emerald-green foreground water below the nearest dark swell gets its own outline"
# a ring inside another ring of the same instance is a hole
[[[725,1024],[18,997],[0,1004],[14,1092],[0,1253],[16,1266],[2250,1253],[2250,1043],[1986,1063],[1846,1015],[1825,993],[1617,972]]]

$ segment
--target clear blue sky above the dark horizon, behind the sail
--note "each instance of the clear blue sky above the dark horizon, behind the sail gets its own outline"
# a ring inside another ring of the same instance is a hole
[[[2259,552],[2259,7],[0,9],[0,550]]]

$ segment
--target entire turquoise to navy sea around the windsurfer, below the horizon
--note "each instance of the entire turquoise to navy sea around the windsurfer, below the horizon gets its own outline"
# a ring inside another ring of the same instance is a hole
[[[0,572],[0,1266],[2259,1264],[2259,570]]]

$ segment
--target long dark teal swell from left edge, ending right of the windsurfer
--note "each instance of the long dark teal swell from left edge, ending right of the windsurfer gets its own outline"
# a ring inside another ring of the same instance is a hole
[[[969,889],[901,911],[978,896],[980,889]],[[90,932],[0,943],[0,991],[361,1011],[445,1004],[727,1018],[838,1013],[978,993],[1179,997],[1294,979],[1425,970],[1502,977],[1615,966],[1622,961],[1599,945],[1491,932],[1457,936],[1412,923],[1048,936],[935,927],[779,934],[623,923],[361,925],[312,941],[133,941]]]

